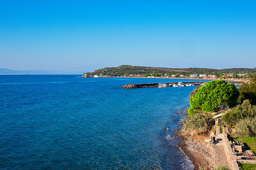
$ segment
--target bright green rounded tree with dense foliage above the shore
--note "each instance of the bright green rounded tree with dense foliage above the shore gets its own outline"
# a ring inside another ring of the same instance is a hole
[[[222,79],[210,81],[199,87],[198,92],[190,98],[188,115],[196,112],[212,112],[219,105],[233,105],[239,96],[238,89],[234,84]]]

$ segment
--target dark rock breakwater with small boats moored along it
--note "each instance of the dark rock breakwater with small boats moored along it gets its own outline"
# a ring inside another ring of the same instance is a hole
[[[178,84],[183,84],[184,86],[186,85],[203,85],[207,81],[189,81],[189,82],[170,82],[170,83],[164,83],[167,86],[173,86],[173,85],[178,85]],[[158,87],[159,83],[144,83],[144,84],[127,84],[122,86],[121,88],[128,88],[128,89],[135,89],[135,88],[144,88],[144,87]]]

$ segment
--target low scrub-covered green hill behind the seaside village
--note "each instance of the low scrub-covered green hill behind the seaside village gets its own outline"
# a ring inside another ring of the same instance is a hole
[[[123,74],[151,74],[153,71],[156,74],[228,74],[228,73],[248,73],[256,72],[256,68],[231,68],[231,69],[208,69],[208,68],[162,68],[162,67],[144,67],[144,66],[131,66],[121,65],[118,67],[106,67],[103,69],[95,70],[94,74],[108,74],[108,75],[123,75]]]

